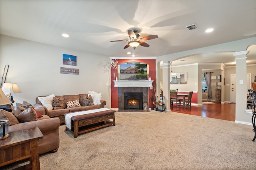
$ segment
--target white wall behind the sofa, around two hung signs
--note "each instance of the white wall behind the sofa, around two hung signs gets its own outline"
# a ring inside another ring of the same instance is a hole
[[[85,47],[86,48],[86,47]],[[77,56],[77,66],[62,64],[62,54]],[[22,93],[12,94],[16,102],[35,103],[37,96],[102,93],[105,107],[111,107],[109,57],[62,49],[51,45],[0,35],[0,75],[9,64],[6,82],[15,82]],[[60,67],[78,68],[79,75],[60,74]],[[14,106],[16,104],[14,103]]]

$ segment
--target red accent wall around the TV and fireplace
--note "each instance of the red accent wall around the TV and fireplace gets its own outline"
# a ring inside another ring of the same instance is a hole
[[[121,63],[126,63],[126,62],[131,62],[131,61],[137,61],[141,63],[146,63],[148,64],[148,71],[149,71],[149,76],[151,77],[151,80],[156,81],[156,59],[118,59],[118,65]],[[118,71],[116,71],[116,76],[118,76]],[[111,68],[111,108],[118,108],[118,87],[114,87],[114,70]],[[150,102],[150,97],[151,97],[151,90],[149,90],[149,106],[148,108],[151,107],[151,102]]]

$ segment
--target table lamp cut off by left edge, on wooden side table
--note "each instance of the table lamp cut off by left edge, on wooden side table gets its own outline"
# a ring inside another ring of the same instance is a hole
[[[0,106],[11,104],[12,102],[5,96],[4,92],[0,90]],[[8,120],[0,120],[0,140],[7,138],[9,135]]]

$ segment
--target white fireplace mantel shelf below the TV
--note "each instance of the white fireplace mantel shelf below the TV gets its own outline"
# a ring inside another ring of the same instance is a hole
[[[153,87],[154,80],[113,80],[114,87]]]

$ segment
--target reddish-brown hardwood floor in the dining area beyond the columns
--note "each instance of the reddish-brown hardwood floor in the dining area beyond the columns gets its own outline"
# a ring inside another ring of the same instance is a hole
[[[220,103],[214,103],[214,104],[203,104],[202,106],[193,106],[191,108],[183,109],[178,106],[176,109],[175,104],[173,104],[173,107],[171,107],[171,111],[178,112],[178,113],[184,113],[189,115],[198,115],[202,117],[211,117],[215,119],[222,119],[222,120],[228,120],[228,121],[235,121],[235,113],[236,110],[236,104],[220,104]]]

